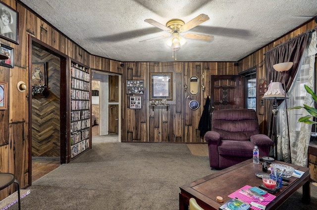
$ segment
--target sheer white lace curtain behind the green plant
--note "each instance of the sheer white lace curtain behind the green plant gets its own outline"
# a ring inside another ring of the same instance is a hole
[[[315,54],[317,53],[317,36],[313,32],[308,44],[304,50],[299,70],[294,77],[293,84],[290,86],[286,102],[288,107],[314,106],[314,100],[310,94],[307,94],[304,84],[312,89],[315,89]],[[277,117],[278,126],[278,159],[284,160],[287,163],[292,162],[297,166],[306,167],[308,163],[308,146],[311,138],[312,125],[297,123],[300,117],[308,115],[305,109],[288,110],[289,118],[289,132],[290,132],[290,146],[291,158],[289,157],[288,136],[286,122],[285,101],[279,106],[279,115]]]

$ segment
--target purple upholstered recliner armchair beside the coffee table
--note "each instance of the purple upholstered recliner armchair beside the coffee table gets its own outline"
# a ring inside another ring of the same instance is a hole
[[[253,109],[222,109],[212,112],[211,131],[205,134],[211,168],[228,168],[253,157],[254,146],[260,158],[268,157],[273,141],[260,134]]]

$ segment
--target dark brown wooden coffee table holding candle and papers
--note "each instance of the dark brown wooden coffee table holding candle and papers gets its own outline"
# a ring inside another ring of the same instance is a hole
[[[310,172],[309,168],[294,166],[291,164],[274,161],[292,166],[297,170],[305,173],[301,178],[291,177],[288,186],[282,186],[280,191],[275,194],[274,202],[269,203],[265,210],[275,210],[283,202],[285,202],[295,191],[303,186],[303,202],[310,203]],[[245,185],[259,186],[262,184],[262,179],[258,178],[255,173],[262,172],[262,163],[254,164],[252,159],[220,170],[204,178],[198,179],[189,184],[180,187],[179,194],[179,209],[188,210],[189,199],[195,198],[197,203],[204,210],[218,210],[222,205],[216,201],[217,196],[223,198],[223,202],[229,200],[228,195],[235,192]]]

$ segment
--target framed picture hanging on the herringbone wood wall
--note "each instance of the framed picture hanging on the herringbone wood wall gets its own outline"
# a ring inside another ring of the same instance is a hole
[[[47,68],[48,63],[32,63],[32,86],[48,87]]]

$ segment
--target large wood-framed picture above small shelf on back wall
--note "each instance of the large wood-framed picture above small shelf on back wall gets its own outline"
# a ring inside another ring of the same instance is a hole
[[[172,73],[150,73],[150,100],[173,100]]]

